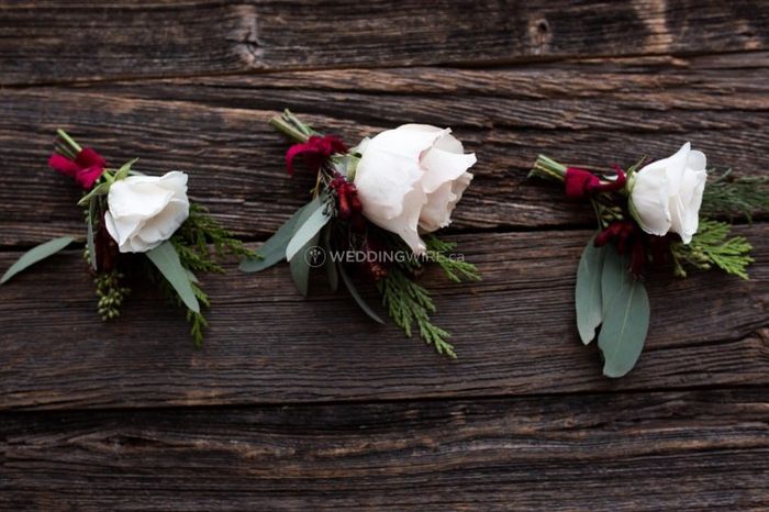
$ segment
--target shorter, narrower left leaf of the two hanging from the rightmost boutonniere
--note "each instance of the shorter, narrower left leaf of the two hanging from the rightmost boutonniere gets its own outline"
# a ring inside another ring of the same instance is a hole
[[[595,329],[603,321],[601,301],[601,275],[605,246],[595,247],[595,236],[590,238],[582,252],[577,268],[577,286],[575,287],[575,304],[577,308],[577,330],[583,344],[589,344],[595,337]]]

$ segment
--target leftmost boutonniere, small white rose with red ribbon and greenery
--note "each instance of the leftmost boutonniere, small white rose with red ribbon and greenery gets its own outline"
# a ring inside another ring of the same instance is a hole
[[[187,197],[187,175],[180,171],[145,176],[133,166],[107,165],[104,157],[81,147],[63,130],[48,165],[83,189],[78,202],[86,218],[85,257],[94,276],[98,312],[102,320],[120,314],[130,289],[129,275],[164,287],[187,310],[196,346],[208,326],[201,311],[210,301],[198,280],[204,272],[223,272],[225,256],[255,257],[205,208]],[[41,244],[8,269],[0,285],[75,242],[63,236]]]

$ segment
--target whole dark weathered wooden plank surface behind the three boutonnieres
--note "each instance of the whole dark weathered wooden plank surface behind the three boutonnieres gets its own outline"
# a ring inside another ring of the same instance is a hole
[[[350,142],[453,126],[479,163],[450,237],[484,280],[426,276],[456,361],[286,266],[207,278],[196,352],[141,283],[100,323],[79,251],[54,257],[0,289],[0,508],[767,510],[769,216],[738,221],[749,282],[650,278],[646,349],[609,380],[572,312],[591,214],[525,177],[686,141],[769,176],[768,93],[762,0],[2,2],[0,268],[83,236],[59,126],[186,170],[258,246],[312,179],[266,124],[289,107]]]

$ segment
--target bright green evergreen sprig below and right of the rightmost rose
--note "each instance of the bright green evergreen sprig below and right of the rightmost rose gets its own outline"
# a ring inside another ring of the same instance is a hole
[[[688,264],[702,270],[716,266],[747,280],[747,267],[754,261],[750,257],[753,246],[744,236],[727,238],[731,229],[726,222],[702,220],[689,245],[671,244],[676,275],[686,277],[684,264]]]

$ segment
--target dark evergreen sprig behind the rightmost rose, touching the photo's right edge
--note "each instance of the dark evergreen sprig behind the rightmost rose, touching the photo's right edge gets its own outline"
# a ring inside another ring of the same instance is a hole
[[[748,222],[753,215],[769,212],[769,178],[732,177],[732,170],[709,181],[702,194],[700,213],[705,216],[744,215]]]

